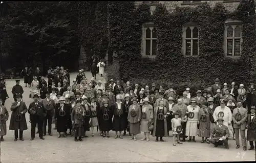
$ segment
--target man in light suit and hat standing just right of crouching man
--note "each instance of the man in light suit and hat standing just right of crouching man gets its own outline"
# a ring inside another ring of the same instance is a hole
[[[241,133],[241,140],[243,149],[246,150],[246,138],[245,138],[245,127],[247,120],[247,109],[242,107],[242,103],[239,101],[237,103],[237,108],[233,110],[232,120],[234,122],[234,133],[236,135],[236,145],[237,149],[240,147],[239,143],[239,132]]]

